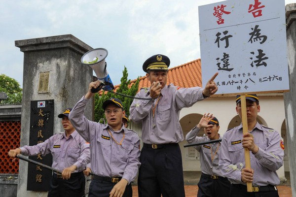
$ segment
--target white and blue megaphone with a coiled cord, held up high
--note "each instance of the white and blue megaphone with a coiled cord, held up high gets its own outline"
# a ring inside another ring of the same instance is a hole
[[[96,93],[102,88],[104,90],[114,90],[113,83],[106,69],[107,63],[105,62],[105,58],[107,56],[107,49],[96,48],[86,52],[81,57],[81,63],[90,66],[95,71],[98,80],[101,82],[101,86],[96,89],[91,89],[92,93]]]

